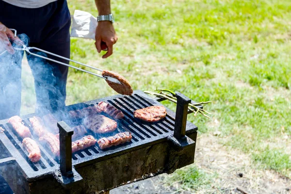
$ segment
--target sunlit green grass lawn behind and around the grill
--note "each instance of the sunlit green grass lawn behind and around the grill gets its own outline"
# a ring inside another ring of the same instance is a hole
[[[68,3],[71,14],[97,16],[94,0]],[[94,41],[73,38],[74,60],[114,70],[134,89],[213,100],[212,120],[189,116],[199,132],[219,130],[223,144],[291,178],[290,0],[113,0],[112,10],[113,56],[101,59]],[[113,94],[105,81],[70,70],[68,104]],[[174,179],[194,188],[208,181],[195,179],[203,173],[195,166],[187,172]]]

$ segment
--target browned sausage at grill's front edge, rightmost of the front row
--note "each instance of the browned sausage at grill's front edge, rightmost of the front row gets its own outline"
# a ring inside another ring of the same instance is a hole
[[[117,146],[131,141],[131,134],[129,132],[117,133],[111,137],[103,137],[98,140],[100,149],[105,149],[111,146]]]

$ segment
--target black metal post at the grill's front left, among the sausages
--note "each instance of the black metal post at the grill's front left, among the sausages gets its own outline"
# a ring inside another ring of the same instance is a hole
[[[73,176],[72,172],[72,135],[71,129],[64,121],[58,122],[60,130],[60,169],[67,177]]]

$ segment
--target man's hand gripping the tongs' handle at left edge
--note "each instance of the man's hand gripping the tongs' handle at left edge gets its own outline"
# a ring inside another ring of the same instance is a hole
[[[14,33],[9,28],[0,22],[0,51],[6,49],[10,54],[14,54],[15,51],[8,38],[21,42],[17,36],[14,37]]]

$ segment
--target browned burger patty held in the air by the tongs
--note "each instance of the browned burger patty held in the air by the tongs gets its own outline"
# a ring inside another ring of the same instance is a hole
[[[132,95],[133,90],[131,88],[131,85],[129,81],[125,79],[123,76],[117,73],[114,73],[112,71],[108,71],[108,70],[102,71],[102,76],[109,76],[112,78],[116,78],[118,81],[122,83],[122,84],[118,84],[118,83],[114,83],[114,82],[106,80],[108,85],[112,87],[112,89],[115,90],[115,92],[117,92],[118,94]]]

